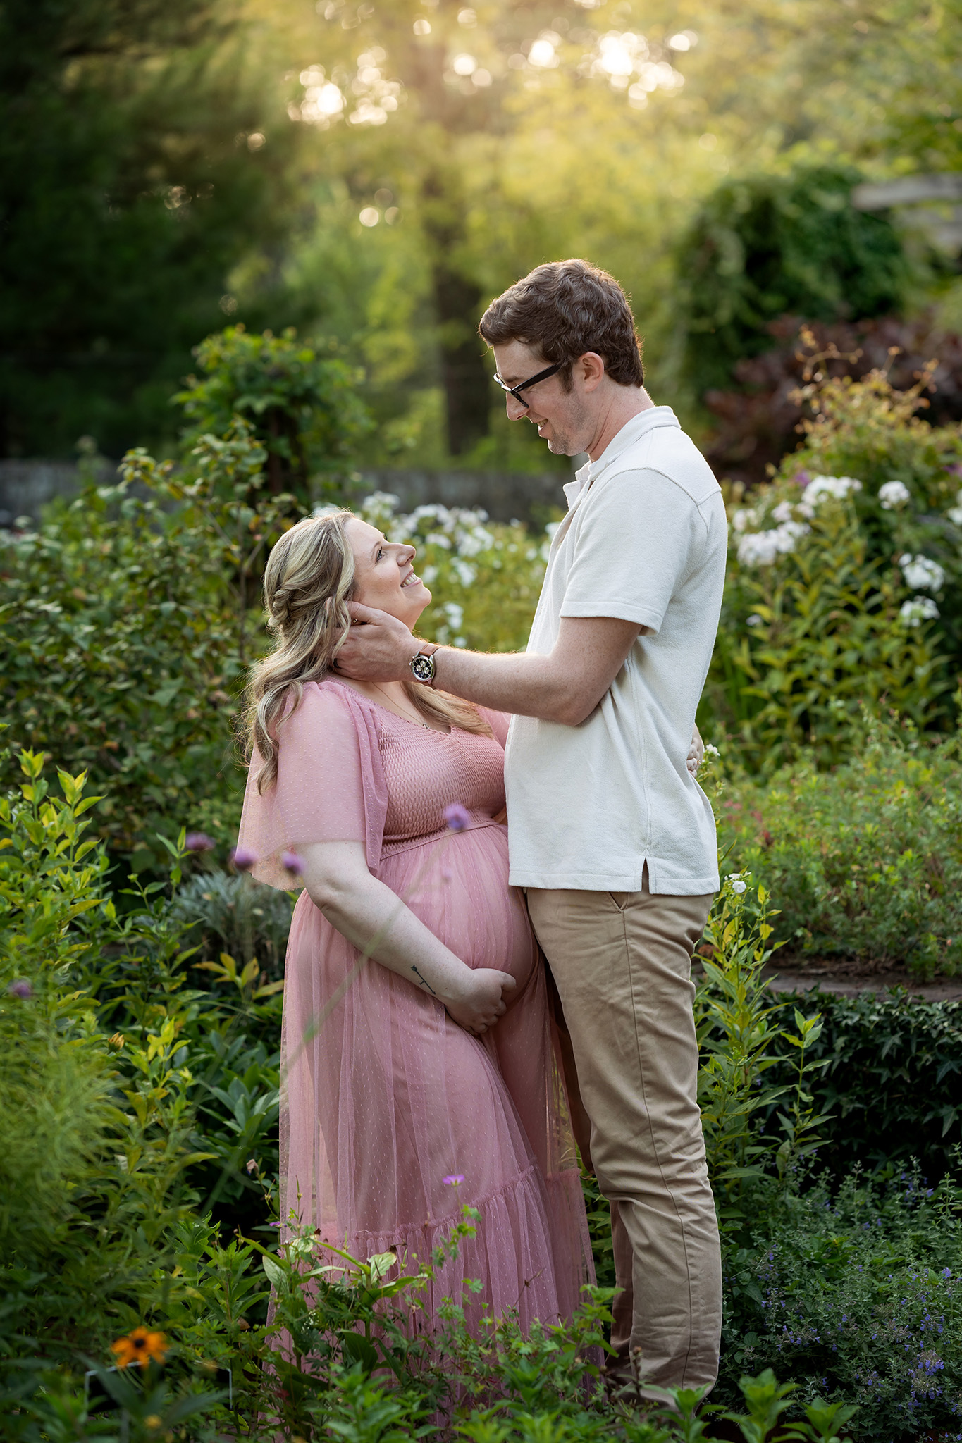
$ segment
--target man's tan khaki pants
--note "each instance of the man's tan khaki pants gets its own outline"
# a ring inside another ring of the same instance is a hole
[[[571,1039],[578,1143],[612,1205],[623,1291],[609,1367],[635,1358],[659,1387],[711,1385],[718,1372],[721,1254],[691,981],[710,905],[711,896],[652,896],[648,872],[640,892],[528,890]],[[577,1127],[584,1114],[590,1143]]]

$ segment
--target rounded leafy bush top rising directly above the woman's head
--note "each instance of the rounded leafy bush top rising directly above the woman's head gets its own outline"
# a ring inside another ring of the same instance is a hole
[[[358,395],[361,374],[320,346],[299,342],[294,329],[250,335],[228,326],[195,348],[203,375],[190,375],[175,401],[190,423],[189,447],[224,436],[242,416],[265,452],[271,495],[293,492],[307,505],[349,475],[352,450],[371,427]]]

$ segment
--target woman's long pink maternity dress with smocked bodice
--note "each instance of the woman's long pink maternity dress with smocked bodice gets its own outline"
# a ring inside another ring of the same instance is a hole
[[[526,1329],[567,1319],[594,1280],[574,1141],[548,1014],[544,965],[508,886],[506,717],[495,740],[418,726],[327,677],[304,685],[280,727],[275,788],[251,765],[239,846],[254,876],[290,886],[278,856],[312,841],[362,841],[371,872],[469,967],[511,973],[506,1014],[483,1038],[424,988],[368,961],[301,892],[287,944],[281,1040],[281,1218],[355,1257],[433,1248],[472,1203],[475,1238],[438,1271],[446,1296]],[[441,812],[460,802],[470,827]],[[444,1179],[463,1175],[463,1183]],[[332,1260],[333,1261],[333,1260]],[[477,1278],[479,1296],[462,1297]]]

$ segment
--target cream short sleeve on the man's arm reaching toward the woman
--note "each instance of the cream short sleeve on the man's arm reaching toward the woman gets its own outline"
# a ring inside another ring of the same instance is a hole
[[[656,470],[629,470],[586,496],[561,616],[617,616],[656,632],[705,545],[691,496]]]

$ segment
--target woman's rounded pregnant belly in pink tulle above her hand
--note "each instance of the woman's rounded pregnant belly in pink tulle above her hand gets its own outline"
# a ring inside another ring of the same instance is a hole
[[[469,967],[511,973],[535,962],[524,898],[508,886],[508,833],[475,827],[387,857],[381,879]]]

